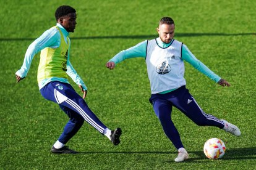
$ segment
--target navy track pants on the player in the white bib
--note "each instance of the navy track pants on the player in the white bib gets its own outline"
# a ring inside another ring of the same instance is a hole
[[[182,145],[179,132],[171,120],[173,106],[181,110],[198,126],[216,126],[221,129],[224,127],[223,121],[203,112],[194,97],[189,93],[189,90],[186,89],[186,86],[166,94],[152,94],[150,102],[153,105],[156,116],[160,120],[164,133],[177,149],[184,146]]]

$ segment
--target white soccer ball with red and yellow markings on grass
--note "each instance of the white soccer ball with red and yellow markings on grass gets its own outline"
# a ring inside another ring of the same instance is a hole
[[[211,160],[216,160],[221,158],[226,151],[224,142],[218,138],[211,138],[205,142],[203,146],[203,152],[205,156]]]

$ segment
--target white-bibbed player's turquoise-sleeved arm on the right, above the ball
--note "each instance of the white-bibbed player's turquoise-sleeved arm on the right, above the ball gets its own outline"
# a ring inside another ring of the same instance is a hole
[[[213,71],[211,71],[206,65],[200,62],[200,60],[198,60],[184,44],[182,45],[182,59],[186,60],[186,62],[190,63],[190,65],[192,65],[195,69],[197,69],[216,83],[220,84],[221,86],[230,86],[228,81],[220,78],[220,76],[213,73]]]

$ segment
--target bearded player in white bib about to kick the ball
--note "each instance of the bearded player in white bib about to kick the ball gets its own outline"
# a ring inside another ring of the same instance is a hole
[[[134,47],[119,52],[106,63],[106,67],[113,69],[122,60],[134,57],[145,59],[151,87],[150,102],[156,116],[160,119],[163,131],[178,150],[178,156],[174,161],[181,162],[187,160],[189,154],[182,145],[179,132],[171,120],[172,107],[181,110],[198,126],[216,126],[234,136],[240,136],[241,132],[237,126],[228,121],[206,114],[186,89],[184,61],[221,86],[230,86],[230,84],[197,60],[186,45],[173,39],[174,30],[172,18],[161,18],[157,28],[158,38],[140,42]]]

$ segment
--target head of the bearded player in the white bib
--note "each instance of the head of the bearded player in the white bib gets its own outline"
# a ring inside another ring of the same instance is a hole
[[[174,37],[175,30],[174,20],[170,17],[161,18],[156,30],[158,31],[161,41],[165,43],[171,42]]]

